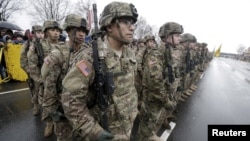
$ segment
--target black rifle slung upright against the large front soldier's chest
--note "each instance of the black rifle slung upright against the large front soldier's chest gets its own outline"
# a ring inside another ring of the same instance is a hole
[[[94,12],[94,34],[92,36],[92,47],[93,47],[93,65],[95,69],[94,89],[96,94],[96,103],[101,111],[100,124],[104,130],[109,131],[108,128],[108,117],[107,108],[112,102],[112,93],[114,92],[113,73],[106,71],[106,63],[104,56],[99,55],[98,41],[101,41],[100,31],[98,31],[97,21],[97,8],[96,4],[93,4]]]

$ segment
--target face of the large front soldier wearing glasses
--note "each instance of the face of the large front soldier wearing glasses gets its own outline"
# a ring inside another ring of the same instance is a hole
[[[131,18],[121,18],[118,23],[111,24],[108,30],[112,36],[120,38],[123,42],[130,43],[133,40],[135,23]]]

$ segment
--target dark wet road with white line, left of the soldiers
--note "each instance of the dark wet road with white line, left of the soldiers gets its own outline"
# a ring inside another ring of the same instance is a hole
[[[30,92],[26,82],[0,85],[0,141],[55,141],[43,137],[40,116],[32,115]]]

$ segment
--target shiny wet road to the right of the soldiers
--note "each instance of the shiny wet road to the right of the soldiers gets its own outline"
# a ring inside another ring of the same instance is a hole
[[[168,141],[207,141],[209,124],[250,124],[250,64],[215,58],[204,74]]]

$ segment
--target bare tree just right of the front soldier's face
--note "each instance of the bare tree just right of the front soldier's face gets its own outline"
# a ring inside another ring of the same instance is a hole
[[[153,27],[150,26],[144,17],[139,17],[137,20],[137,27],[135,29],[135,38],[144,38],[144,36],[153,33]]]

